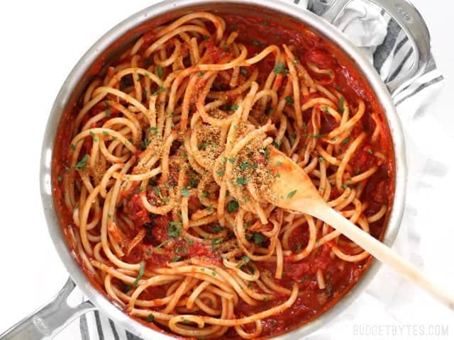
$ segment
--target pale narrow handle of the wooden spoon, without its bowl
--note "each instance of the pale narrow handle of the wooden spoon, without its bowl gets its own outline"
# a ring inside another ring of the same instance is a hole
[[[375,259],[394,268],[397,273],[401,273],[407,280],[419,285],[423,290],[426,290],[433,297],[436,297],[443,304],[447,305],[450,310],[454,311],[454,295],[451,291],[434,283],[425,273],[392,251],[388,246],[353,225],[352,222],[340,215],[336,210],[325,205],[320,205],[314,209],[311,215],[318,217],[320,220],[328,223],[328,225],[336,228],[343,235],[374,256]]]

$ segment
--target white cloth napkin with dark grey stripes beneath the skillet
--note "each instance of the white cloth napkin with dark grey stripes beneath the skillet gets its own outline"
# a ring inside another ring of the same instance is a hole
[[[326,9],[326,1],[323,0],[293,2],[304,8],[309,7],[318,14]],[[382,79],[399,77],[411,66],[411,47],[404,33],[370,1],[353,1],[336,26],[367,55]],[[437,197],[447,179],[450,178],[451,184],[454,179],[453,161],[450,160],[449,164],[445,157],[446,154],[452,155],[450,146],[454,140],[447,135],[436,134],[439,130],[437,122],[428,115],[430,108],[423,105],[428,98],[433,100],[442,80],[443,77],[433,64],[430,72],[409,86],[406,96],[397,98],[397,108],[406,135],[410,171],[404,219],[393,249],[421,268],[421,239],[426,237],[427,244],[436,244],[434,237],[440,237],[439,234],[434,236],[427,232],[427,228],[431,227],[431,212],[439,207],[436,200],[428,202],[426,198]],[[425,137],[421,139],[421,136]],[[423,253],[425,258],[430,256],[428,250]],[[433,312],[418,312],[427,308]],[[454,331],[453,319],[448,318],[448,314],[425,294],[388,268],[382,267],[365,293],[342,314],[306,339],[409,340],[415,336],[424,340],[450,339],[443,335],[446,327]],[[79,322],[83,340],[139,339],[99,312],[89,313]],[[157,334],[155,339],[159,338]]]

